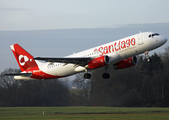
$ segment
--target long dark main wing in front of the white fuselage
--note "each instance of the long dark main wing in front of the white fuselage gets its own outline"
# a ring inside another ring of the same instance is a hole
[[[72,63],[84,66],[88,62],[92,60],[91,57],[65,57],[65,58],[44,58],[44,57],[36,57],[34,60],[43,60],[45,62],[60,62],[60,63]]]

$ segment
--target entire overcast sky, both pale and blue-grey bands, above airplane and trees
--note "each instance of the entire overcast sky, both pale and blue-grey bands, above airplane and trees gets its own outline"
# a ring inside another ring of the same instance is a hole
[[[138,31],[169,38],[169,0],[0,0],[0,72],[19,68],[15,43],[35,57],[63,57]]]

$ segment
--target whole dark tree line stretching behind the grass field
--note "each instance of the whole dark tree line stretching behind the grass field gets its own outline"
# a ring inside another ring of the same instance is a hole
[[[163,53],[138,56],[134,67],[114,70],[110,64],[108,80],[102,78],[104,68],[92,71],[91,80],[75,75],[70,89],[58,79],[17,81],[11,76],[0,77],[0,106],[169,106],[169,47]],[[20,72],[6,69],[1,73]]]

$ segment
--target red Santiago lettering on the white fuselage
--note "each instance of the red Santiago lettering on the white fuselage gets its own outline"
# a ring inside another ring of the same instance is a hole
[[[101,53],[101,55],[104,55],[104,54],[112,53],[114,51],[129,48],[130,46],[135,46],[135,44],[136,44],[135,38],[132,38],[132,39],[127,39],[126,41],[123,40],[123,41],[115,42],[109,46],[100,47],[98,51]]]

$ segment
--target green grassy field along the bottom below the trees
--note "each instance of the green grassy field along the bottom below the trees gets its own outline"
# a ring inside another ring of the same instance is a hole
[[[44,114],[44,115],[43,115]],[[0,107],[0,120],[168,120],[169,108]]]

